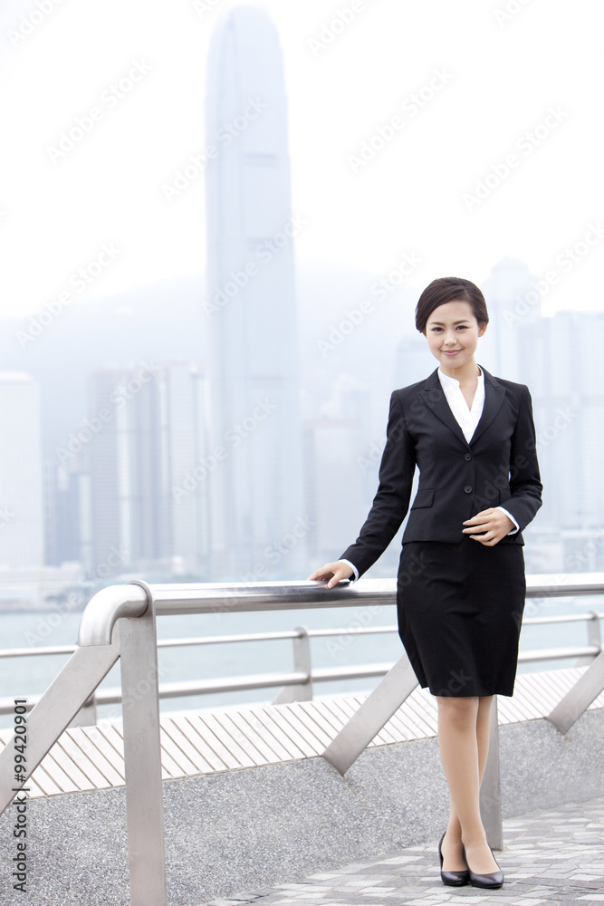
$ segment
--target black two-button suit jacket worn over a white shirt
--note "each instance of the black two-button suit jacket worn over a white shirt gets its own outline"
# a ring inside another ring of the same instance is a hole
[[[446,400],[436,369],[425,381],[394,390],[379,487],[360,535],[340,559],[365,573],[397,534],[419,469],[407,541],[464,540],[462,525],[504,506],[520,525],[500,545],[523,545],[523,528],[542,505],[531,395],[525,384],[494,378],[483,366],[484,409],[470,443]]]

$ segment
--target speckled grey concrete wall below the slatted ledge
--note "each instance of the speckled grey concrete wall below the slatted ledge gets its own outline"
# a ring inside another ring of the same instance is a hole
[[[546,720],[501,728],[503,814],[604,794],[604,710],[561,737]],[[340,775],[322,758],[164,784],[171,906],[437,840],[446,784],[436,739],[371,748]],[[28,804],[28,894],[12,889],[11,807],[0,817],[0,904],[127,906],[123,788]],[[436,850],[435,850],[436,862]]]

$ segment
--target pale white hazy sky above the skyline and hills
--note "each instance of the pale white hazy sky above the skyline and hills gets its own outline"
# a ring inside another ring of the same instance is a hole
[[[211,140],[206,49],[228,5],[4,0],[2,313],[204,267],[203,177],[172,202],[162,186]],[[292,208],[308,221],[300,266],[380,275],[415,255],[419,293],[442,275],[482,283],[510,255],[557,275],[544,313],[602,307],[595,0],[264,8],[283,45]],[[83,137],[57,153],[78,118]]]

